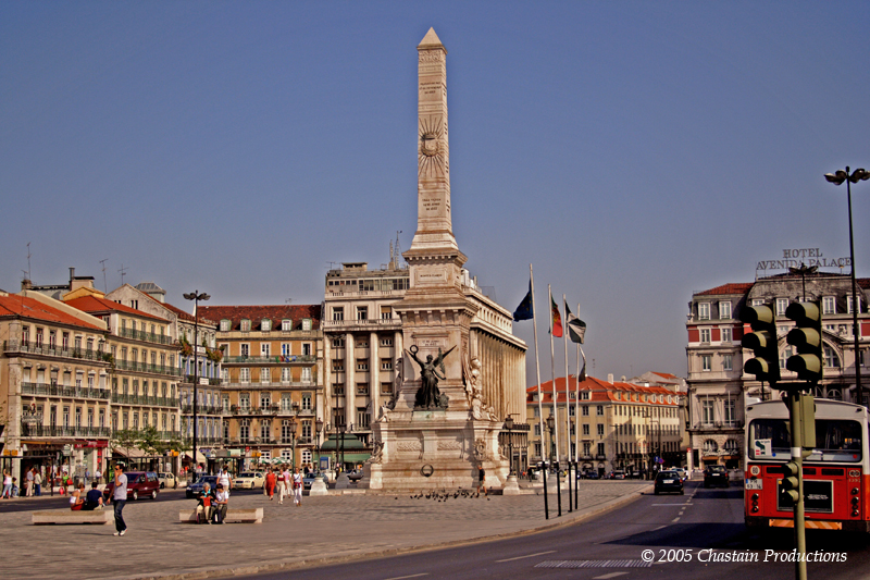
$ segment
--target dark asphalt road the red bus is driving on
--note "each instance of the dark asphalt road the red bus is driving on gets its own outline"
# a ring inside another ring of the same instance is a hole
[[[594,520],[543,533],[316,569],[233,578],[792,578],[795,565],[782,562],[782,557],[793,548],[793,531],[778,532],[757,533],[745,528],[742,488],[705,490],[699,482],[688,482],[685,495],[644,495]],[[808,564],[809,578],[870,577],[867,540],[860,534],[808,530],[809,552],[819,551],[841,560]],[[647,562],[649,554],[652,562]],[[722,562],[723,558],[732,562]]]

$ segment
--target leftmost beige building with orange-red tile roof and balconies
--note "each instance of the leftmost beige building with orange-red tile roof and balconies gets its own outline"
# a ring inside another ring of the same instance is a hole
[[[66,445],[70,465],[90,471],[104,465],[111,435],[107,334],[101,319],[44,294],[0,296],[0,448],[18,481],[32,467],[48,467],[46,456]]]

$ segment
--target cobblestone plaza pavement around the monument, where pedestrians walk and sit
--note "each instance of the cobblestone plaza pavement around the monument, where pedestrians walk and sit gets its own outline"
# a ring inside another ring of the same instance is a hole
[[[128,502],[128,531],[114,526],[33,526],[30,511],[0,514],[2,578],[160,578],[226,575],[234,570],[311,566],[330,559],[393,554],[426,546],[471,542],[566,523],[636,497],[644,482],[581,482],[581,509],[544,517],[542,495],[452,498],[408,495],[306,496],[301,507],[262,495],[235,495],[231,509],[263,507],[263,523],[196,526],[178,511],[196,502]],[[20,556],[20,557],[17,557]]]

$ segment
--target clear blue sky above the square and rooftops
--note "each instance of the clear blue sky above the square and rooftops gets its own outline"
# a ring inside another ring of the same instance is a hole
[[[472,273],[513,310],[534,263],[539,312],[548,283],[580,304],[596,377],[685,375],[694,291],[783,248],[848,256],[822,174],[870,168],[867,7],[2,1],[0,288],[28,242],[37,284],[102,288],[108,259],[109,289],[123,264],[181,307],[320,303],[330,262],[385,263],[415,226],[433,26]],[[870,182],[853,194],[867,276]]]

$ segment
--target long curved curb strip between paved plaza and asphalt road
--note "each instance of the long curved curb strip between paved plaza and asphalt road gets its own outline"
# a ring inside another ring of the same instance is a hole
[[[589,520],[601,514],[610,511],[612,509],[617,509],[619,507],[625,506],[631,504],[632,502],[638,499],[645,493],[648,493],[652,485],[647,485],[641,491],[633,492],[630,494],[625,494],[621,497],[617,497],[614,499],[609,499],[604,504],[595,506],[594,508],[589,509],[588,511],[583,513],[572,513],[566,515],[562,513],[561,519],[559,521],[550,521],[547,520],[547,523],[542,526],[537,526],[534,528],[529,528],[525,530],[518,530],[515,532],[506,532],[499,533],[494,535],[484,535],[480,538],[471,538],[468,540],[450,540],[447,542],[438,542],[435,544],[422,544],[418,546],[408,546],[408,547],[400,547],[400,548],[391,548],[391,550],[376,550],[373,552],[366,552],[364,554],[348,554],[345,556],[323,556],[316,557],[311,559],[295,559],[291,562],[279,562],[279,563],[272,563],[272,564],[262,564],[262,565],[251,565],[251,566],[240,566],[238,568],[209,568],[204,570],[197,570],[190,572],[181,572],[181,573],[167,573],[167,575],[146,575],[146,576],[126,576],[119,578],[117,580],[200,580],[200,579],[209,579],[209,578],[224,578],[229,576],[250,576],[257,573],[268,573],[268,572],[282,572],[282,571],[289,571],[289,570],[300,570],[307,568],[318,568],[321,566],[331,566],[335,564],[345,564],[348,562],[362,562],[368,559],[374,558],[384,558],[384,557],[393,557],[399,556],[405,554],[413,554],[413,553],[421,553],[421,552],[431,552],[435,550],[444,550],[448,547],[457,547],[457,546],[467,546],[473,544],[485,544],[488,542],[497,542],[499,540],[506,540],[508,538],[519,538],[523,535],[531,535],[534,533],[539,533],[548,530],[555,530],[558,528],[564,528],[568,526],[573,526],[575,523],[581,523],[583,521]]]

